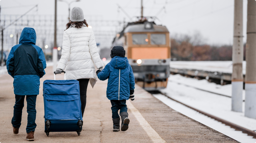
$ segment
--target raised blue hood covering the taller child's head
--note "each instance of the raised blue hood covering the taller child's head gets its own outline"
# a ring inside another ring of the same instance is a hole
[[[20,34],[19,44],[34,44],[36,43],[37,35],[35,29],[26,27],[22,30]]]

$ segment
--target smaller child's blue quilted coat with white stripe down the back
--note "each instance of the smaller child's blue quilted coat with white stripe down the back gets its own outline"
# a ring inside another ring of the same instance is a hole
[[[129,100],[130,90],[134,89],[135,81],[132,67],[126,57],[114,57],[98,73],[100,80],[108,79],[107,98],[109,100]]]

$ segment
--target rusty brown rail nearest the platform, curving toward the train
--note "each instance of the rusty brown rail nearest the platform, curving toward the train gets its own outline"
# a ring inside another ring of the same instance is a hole
[[[159,91],[159,92],[160,92],[160,91]],[[160,92],[160,94],[162,94],[162,95],[168,97],[169,99],[172,99],[173,101],[176,101],[176,102],[178,102],[178,103],[180,103],[180,104],[182,104],[182,105],[184,105],[184,106],[187,106],[188,108],[191,108],[191,109],[193,109],[193,110],[195,110],[195,111],[197,111],[197,112],[199,112],[199,113],[201,113],[201,114],[204,114],[204,115],[206,115],[206,116],[208,116],[208,117],[210,117],[210,118],[212,118],[212,119],[214,119],[214,120],[216,120],[216,121],[219,121],[219,122],[225,124],[226,126],[230,126],[231,128],[235,129],[236,131],[242,131],[243,133],[248,134],[248,136],[253,136],[253,138],[256,139],[256,132],[254,132],[254,131],[251,131],[251,130],[249,130],[249,129],[246,129],[246,128],[244,128],[244,127],[238,126],[238,125],[233,124],[233,123],[231,123],[231,122],[229,122],[229,121],[226,121],[226,120],[224,120],[224,119],[218,118],[218,117],[216,117],[216,116],[213,116],[213,115],[211,115],[211,114],[209,114],[209,113],[206,113],[206,112],[201,111],[201,110],[199,110],[199,109],[196,109],[196,108],[194,108],[194,107],[191,107],[191,106],[189,106],[189,105],[187,105],[187,104],[184,104],[184,103],[182,103],[182,102],[180,102],[180,101],[177,101],[177,100],[175,100],[175,99],[173,99],[173,98],[167,96],[165,93]]]

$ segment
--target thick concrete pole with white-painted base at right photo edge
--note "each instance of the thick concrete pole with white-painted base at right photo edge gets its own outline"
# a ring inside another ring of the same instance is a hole
[[[247,4],[245,116],[256,119],[256,2]]]

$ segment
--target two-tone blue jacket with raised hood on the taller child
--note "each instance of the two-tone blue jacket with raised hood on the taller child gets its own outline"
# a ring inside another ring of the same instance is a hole
[[[14,78],[14,94],[38,95],[40,78],[45,75],[45,57],[42,49],[35,45],[33,28],[24,28],[18,45],[11,48],[6,61],[9,75]]]

